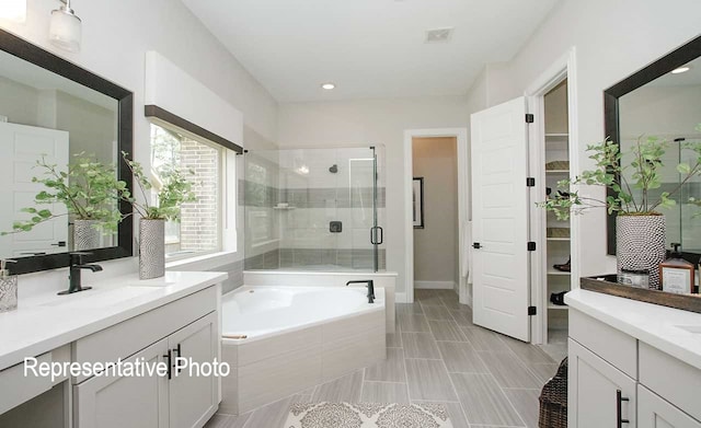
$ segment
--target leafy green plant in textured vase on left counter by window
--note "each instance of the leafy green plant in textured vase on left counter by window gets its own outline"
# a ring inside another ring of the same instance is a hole
[[[193,182],[182,171],[170,169],[161,173],[160,180],[143,171],[139,162],[130,160],[129,153],[122,155],[134,174],[141,199],[129,195],[128,200],[139,219],[139,278],[150,279],[165,274],[165,220],[180,221],[181,206],[196,200]],[[191,172],[191,174],[194,174]],[[157,187],[153,203],[149,193]]]

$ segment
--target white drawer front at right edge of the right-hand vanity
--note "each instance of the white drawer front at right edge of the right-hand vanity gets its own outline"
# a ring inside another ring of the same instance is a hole
[[[641,342],[640,383],[701,420],[699,369]]]

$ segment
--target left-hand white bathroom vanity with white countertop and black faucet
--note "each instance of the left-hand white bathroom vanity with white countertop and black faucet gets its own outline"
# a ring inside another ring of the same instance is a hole
[[[127,276],[68,297],[49,291],[21,299],[16,311],[0,314],[0,426],[204,426],[219,405],[219,378],[177,370],[174,362],[176,357],[195,363],[221,360],[220,284],[226,278],[220,273],[166,273],[146,281]],[[27,357],[37,365],[81,367],[119,360],[135,367],[138,360],[168,370],[51,379],[34,375]]]

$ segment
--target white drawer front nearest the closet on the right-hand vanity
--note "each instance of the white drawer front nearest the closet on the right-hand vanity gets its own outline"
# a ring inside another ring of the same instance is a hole
[[[637,379],[637,340],[579,311],[570,310],[570,337]]]

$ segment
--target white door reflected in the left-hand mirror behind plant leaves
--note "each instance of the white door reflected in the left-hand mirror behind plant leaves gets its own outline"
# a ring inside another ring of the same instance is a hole
[[[35,126],[0,123],[0,171],[7,182],[0,186],[0,232],[12,230],[14,221],[31,215],[22,208],[49,209],[65,215],[62,204],[34,204],[34,196],[46,187],[32,183],[43,177],[43,169],[34,167],[45,155],[46,162],[66,171],[68,164],[68,132]],[[65,253],[68,251],[68,217],[46,221],[30,232],[0,235],[0,257],[21,257],[33,254]]]

